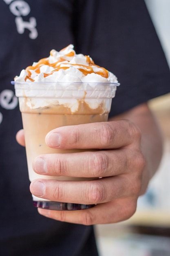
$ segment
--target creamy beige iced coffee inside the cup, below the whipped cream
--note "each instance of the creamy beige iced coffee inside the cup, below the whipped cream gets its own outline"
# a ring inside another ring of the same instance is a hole
[[[83,108],[83,111],[82,111]],[[68,153],[78,152],[81,150],[61,150],[49,148],[45,144],[46,134],[61,126],[87,124],[93,122],[101,122],[108,120],[108,113],[104,112],[103,107],[98,107],[92,110],[83,101],[79,102],[79,109],[74,112],[74,115],[69,109],[60,106],[51,106],[49,108],[28,109],[22,107],[22,123],[24,128],[25,142],[26,142],[26,156],[29,169],[29,180],[37,179],[38,176],[42,178],[42,175],[38,175],[33,171],[32,163],[35,157],[41,154],[50,153]],[[45,176],[45,178],[53,178],[57,180],[82,180],[82,178],[71,177],[51,177]]]

